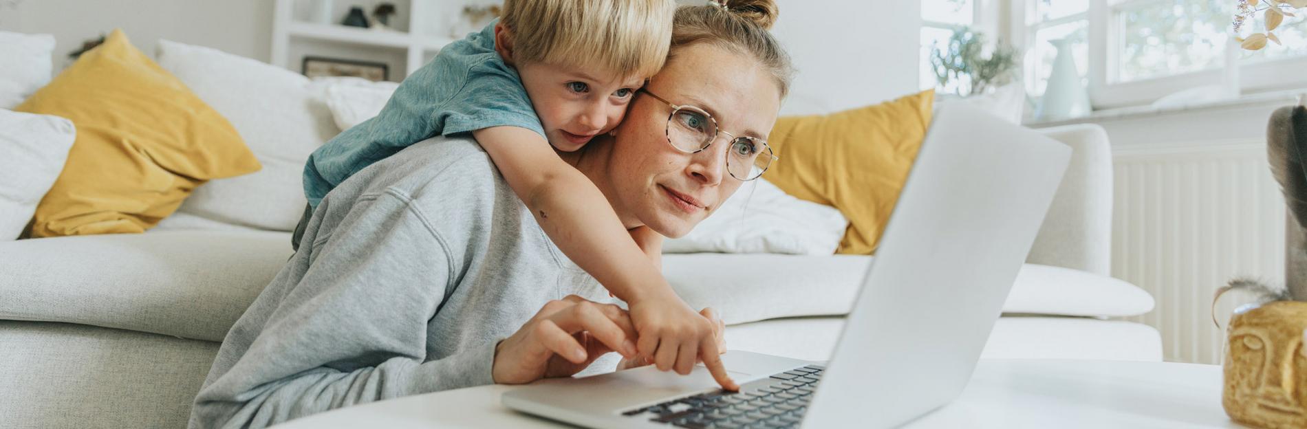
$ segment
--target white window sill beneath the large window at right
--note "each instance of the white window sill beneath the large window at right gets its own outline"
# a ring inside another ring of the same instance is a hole
[[[1069,124],[1108,122],[1108,120],[1117,120],[1127,118],[1138,119],[1138,118],[1176,115],[1176,114],[1206,111],[1206,110],[1247,107],[1247,106],[1278,103],[1278,102],[1295,105],[1299,103],[1299,97],[1307,97],[1307,88],[1266,92],[1257,94],[1244,94],[1239,98],[1196,102],[1183,106],[1168,106],[1168,107],[1132,106],[1132,107],[1104,109],[1104,110],[1095,110],[1094,112],[1085,116],[1057,119],[1057,120],[1036,120],[1027,118],[1022,120],[1021,124],[1030,128],[1048,128],[1048,127],[1069,126]]]

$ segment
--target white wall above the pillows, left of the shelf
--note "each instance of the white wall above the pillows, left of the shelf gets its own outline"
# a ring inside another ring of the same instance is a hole
[[[0,8],[0,30],[54,34],[56,71],[82,41],[115,27],[150,56],[162,38],[267,61],[272,5],[271,0],[21,0]]]

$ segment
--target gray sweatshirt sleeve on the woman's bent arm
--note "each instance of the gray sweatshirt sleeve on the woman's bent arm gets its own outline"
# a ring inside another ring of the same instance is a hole
[[[238,322],[227,334],[223,347],[247,349],[227,357],[235,360],[230,370],[209,375],[191,428],[259,428],[493,383],[495,340],[426,361],[427,320],[455,286],[456,266],[405,196],[363,196],[329,237],[315,238],[294,258],[308,258],[307,271],[280,296],[265,290],[276,302],[256,302],[242,317],[263,324]]]

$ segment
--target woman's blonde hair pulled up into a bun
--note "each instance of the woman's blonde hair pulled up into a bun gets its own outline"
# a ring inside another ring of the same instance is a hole
[[[775,0],[720,0],[718,4],[680,7],[672,21],[669,56],[695,43],[714,46],[752,56],[771,73],[780,97],[789,93],[795,68],[789,54],[771,35],[780,9]]]

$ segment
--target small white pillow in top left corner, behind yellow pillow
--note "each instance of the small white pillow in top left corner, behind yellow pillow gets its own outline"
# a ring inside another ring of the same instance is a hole
[[[0,109],[13,109],[50,82],[55,37],[0,31]]]

